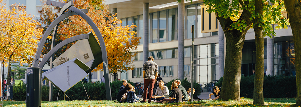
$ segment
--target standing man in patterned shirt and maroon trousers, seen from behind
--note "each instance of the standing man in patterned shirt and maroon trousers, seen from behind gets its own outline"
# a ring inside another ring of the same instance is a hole
[[[147,87],[149,86],[150,92],[148,94],[149,96],[148,103],[151,103],[151,96],[153,95],[155,79],[158,76],[158,65],[153,61],[154,58],[150,56],[147,58],[147,61],[143,63],[142,73],[144,79],[144,91],[143,91],[143,100],[140,102],[146,102]]]

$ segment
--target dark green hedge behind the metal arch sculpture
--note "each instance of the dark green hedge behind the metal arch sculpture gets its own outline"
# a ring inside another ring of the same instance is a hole
[[[128,83],[133,84],[131,81],[127,81]],[[113,81],[110,83],[111,85],[111,96],[112,100],[115,100],[119,88],[122,86],[122,81]],[[95,83],[84,83],[84,87],[86,88],[87,94],[89,96],[90,100],[106,100],[106,88],[105,83],[95,82]],[[71,87],[69,90],[65,92],[65,94],[71,98],[72,100],[88,100],[86,91],[83,87],[83,83],[79,82],[73,87]],[[49,87],[42,85],[41,87],[42,91],[42,101],[49,101]],[[26,85],[21,84],[17,86],[13,86],[13,99],[15,101],[25,101],[26,98]],[[57,100],[70,100],[62,91],[59,92],[59,90],[56,87],[53,87],[53,101]],[[58,97],[57,97],[58,96]]]

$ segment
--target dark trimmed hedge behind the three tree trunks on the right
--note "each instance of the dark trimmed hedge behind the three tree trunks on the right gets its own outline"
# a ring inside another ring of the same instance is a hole
[[[223,77],[215,85],[221,87]],[[221,89],[222,92],[223,89]],[[241,76],[240,97],[253,98],[254,75]],[[294,98],[297,96],[295,76],[264,76],[264,98]]]

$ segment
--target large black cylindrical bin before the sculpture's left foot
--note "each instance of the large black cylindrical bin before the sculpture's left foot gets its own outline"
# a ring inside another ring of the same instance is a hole
[[[41,82],[42,69],[39,67],[31,67],[26,69],[27,85],[26,85],[26,106],[41,107]]]

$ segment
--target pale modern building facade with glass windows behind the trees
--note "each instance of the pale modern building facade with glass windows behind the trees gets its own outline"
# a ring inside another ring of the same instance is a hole
[[[143,81],[143,3],[148,2],[149,7],[149,35],[148,54],[154,57],[154,62],[159,66],[159,74],[163,81],[169,82],[178,78],[178,2],[177,0],[105,0],[112,11],[117,11],[117,17],[122,20],[122,25],[134,24],[137,27],[137,37],[141,37],[138,53],[135,57],[135,69],[118,74],[118,79],[129,79],[132,82]],[[223,75],[219,70],[219,35],[222,31],[214,13],[206,13],[203,0],[193,0],[185,3],[185,32],[184,32],[184,75],[190,80],[190,53],[191,38],[194,37],[194,80],[198,83],[208,83],[219,80]],[[285,14],[285,13],[284,13]],[[285,14],[286,15],[286,14]],[[194,35],[191,33],[194,25]],[[276,30],[272,48],[273,75],[295,75],[294,44],[291,28]],[[223,35],[222,35],[223,36]],[[267,68],[267,37],[265,37],[264,56],[265,70]],[[224,44],[223,44],[224,45]],[[271,43],[270,43],[271,45]],[[224,45],[225,46],[225,45]],[[226,50],[224,47],[222,50]],[[225,52],[225,51],[224,51]],[[252,75],[255,69],[256,50],[254,30],[250,29],[245,38],[242,53],[243,76]],[[269,56],[268,56],[269,57]]]

